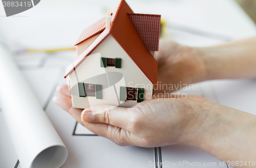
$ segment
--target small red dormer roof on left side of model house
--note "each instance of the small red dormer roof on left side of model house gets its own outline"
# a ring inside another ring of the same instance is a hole
[[[75,45],[81,44],[82,42],[90,39],[91,37],[103,32],[105,30],[105,17],[92,24],[91,26],[84,29]]]

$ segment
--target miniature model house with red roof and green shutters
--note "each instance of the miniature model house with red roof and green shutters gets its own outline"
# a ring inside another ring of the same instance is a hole
[[[132,107],[152,99],[157,83],[160,15],[134,13],[125,1],[85,29],[67,68],[73,107]]]

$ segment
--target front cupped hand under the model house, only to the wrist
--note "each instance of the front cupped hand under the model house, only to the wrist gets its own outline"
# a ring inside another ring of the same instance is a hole
[[[204,116],[202,106],[215,106],[202,97],[188,96],[143,101],[131,108],[97,105],[82,110],[72,107],[67,85],[57,91],[61,94],[54,97],[57,105],[90,131],[120,146],[195,145]]]

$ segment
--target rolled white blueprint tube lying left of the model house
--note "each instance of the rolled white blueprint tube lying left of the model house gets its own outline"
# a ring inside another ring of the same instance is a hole
[[[67,159],[67,148],[1,41],[0,100],[20,165],[60,167]]]

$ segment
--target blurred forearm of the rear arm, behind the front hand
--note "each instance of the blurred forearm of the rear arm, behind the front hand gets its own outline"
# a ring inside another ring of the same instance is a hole
[[[205,63],[205,79],[256,78],[256,38],[198,48]]]

